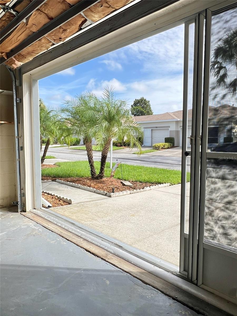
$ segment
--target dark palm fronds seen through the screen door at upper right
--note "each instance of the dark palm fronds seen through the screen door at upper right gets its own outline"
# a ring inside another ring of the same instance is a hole
[[[226,90],[222,100],[228,93],[237,93],[237,29],[232,30],[214,47],[211,60],[211,72],[215,78],[212,90]],[[229,71],[231,69],[231,72]],[[214,96],[214,99],[218,94]]]

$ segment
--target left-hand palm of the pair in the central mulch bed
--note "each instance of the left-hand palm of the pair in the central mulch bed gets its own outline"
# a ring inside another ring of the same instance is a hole
[[[76,135],[83,139],[92,178],[96,177],[92,139],[96,137],[99,105],[100,100],[94,94],[88,92],[65,101],[61,109],[61,124],[64,125],[64,128],[62,128],[64,134],[68,137]]]

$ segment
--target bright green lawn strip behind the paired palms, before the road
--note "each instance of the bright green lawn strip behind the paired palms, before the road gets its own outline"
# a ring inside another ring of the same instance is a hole
[[[99,171],[100,162],[95,161],[96,171]],[[68,161],[57,162],[58,168],[44,168],[41,170],[42,176],[55,178],[78,178],[90,177],[88,161]],[[113,164],[114,165],[114,164]],[[122,164],[123,179],[128,181],[148,182],[148,183],[171,183],[178,184],[181,182],[181,171],[169,170],[154,167],[133,166]],[[105,176],[109,177],[111,169],[109,162],[106,162]],[[121,167],[119,166],[114,174],[114,178],[122,179]],[[187,173],[187,180],[190,181],[190,173]]]

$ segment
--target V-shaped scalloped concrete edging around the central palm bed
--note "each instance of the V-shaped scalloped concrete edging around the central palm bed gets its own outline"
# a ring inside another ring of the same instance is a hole
[[[74,188],[78,188],[78,189],[81,189],[81,190],[86,190],[86,191],[90,191],[90,192],[93,192],[93,193],[105,195],[106,197],[119,197],[119,196],[122,196],[122,195],[138,193],[138,192],[144,192],[144,191],[154,190],[154,189],[158,189],[158,188],[163,188],[165,186],[170,186],[170,183],[162,183],[162,184],[157,184],[157,185],[145,186],[143,189],[126,190],[126,191],[120,191],[120,192],[115,192],[115,193],[109,193],[109,192],[106,192],[106,191],[101,191],[101,190],[97,190],[97,189],[91,188],[89,186],[84,186],[84,185],[80,185],[80,184],[77,184],[77,183],[67,182],[67,181],[63,181],[63,180],[59,180],[59,179],[56,179],[55,182],[62,183],[62,184],[65,184],[65,185],[69,185],[69,186],[73,186]]]

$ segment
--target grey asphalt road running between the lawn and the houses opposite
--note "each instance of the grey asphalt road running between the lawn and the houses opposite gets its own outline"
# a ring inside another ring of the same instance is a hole
[[[68,149],[67,147],[50,147],[47,155],[72,161],[87,160],[86,150]],[[100,152],[93,151],[93,155],[95,161],[100,161]],[[190,157],[187,158],[187,171],[190,171]],[[138,157],[128,150],[125,152],[121,149],[113,151],[113,162],[116,162],[117,159],[131,165],[181,170],[181,157],[161,155],[161,153],[159,155],[157,153],[143,154]],[[110,154],[108,154],[107,161],[110,161]]]

